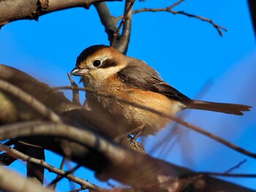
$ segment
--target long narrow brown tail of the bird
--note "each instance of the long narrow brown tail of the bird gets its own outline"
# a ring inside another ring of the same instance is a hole
[[[251,106],[244,105],[244,104],[224,104],[224,103],[193,100],[191,103],[187,104],[187,108],[195,109],[195,110],[225,112],[225,113],[234,114],[234,115],[244,115],[244,111],[249,111]]]

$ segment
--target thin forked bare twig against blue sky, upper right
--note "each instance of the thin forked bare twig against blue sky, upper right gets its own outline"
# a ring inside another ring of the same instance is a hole
[[[142,8],[142,9],[137,9],[137,10],[133,11],[132,14],[137,14],[137,13],[140,13],[140,12],[170,12],[173,15],[185,15],[189,18],[196,18],[196,19],[199,19],[199,20],[202,20],[202,21],[206,21],[207,23],[210,23],[212,26],[214,26],[214,28],[217,29],[220,36],[223,35],[222,30],[227,31],[227,28],[219,26],[217,23],[214,23],[214,21],[211,20],[211,19],[203,18],[199,15],[193,15],[193,14],[190,14],[190,13],[187,13],[187,12],[184,12],[184,11],[174,11],[174,10],[172,10],[173,7],[175,7],[178,4],[181,4],[182,1],[184,1],[184,0],[177,1],[175,4],[173,4],[169,7],[165,7],[165,8],[146,8],[145,7],[145,8]],[[123,18],[123,15],[119,16],[116,19],[120,20],[121,18]]]

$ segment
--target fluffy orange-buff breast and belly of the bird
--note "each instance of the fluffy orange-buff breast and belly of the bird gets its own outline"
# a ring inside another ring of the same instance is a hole
[[[170,120],[152,110],[176,115],[184,107],[180,102],[168,99],[160,93],[131,88],[118,82],[115,77],[112,78],[104,88],[99,88],[99,91],[106,93],[106,97],[88,93],[86,99],[92,110],[101,111],[105,117],[112,119],[120,133],[145,125],[143,135],[154,134]]]

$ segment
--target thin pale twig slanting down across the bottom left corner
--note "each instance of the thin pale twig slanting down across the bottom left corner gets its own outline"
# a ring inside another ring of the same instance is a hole
[[[94,191],[106,192],[106,190],[104,188],[99,188],[97,185],[91,184],[86,180],[83,180],[79,177],[75,177],[72,174],[67,174],[67,172],[65,172],[61,169],[58,169],[55,166],[52,166],[41,159],[32,158],[29,155],[26,155],[24,153],[21,153],[18,150],[13,149],[12,147],[7,147],[6,145],[2,145],[0,143],[0,149],[5,150],[13,158],[19,158],[22,161],[31,162],[33,164],[43,166],[45,169],[48,169],[49,172],[53,172],[53,173],[59,174],[63,177],[66,177],[68,180],[71,180],[72,182],[78,183],[79,185],[81,185],[81,187],[83,189],[89,188]]]

